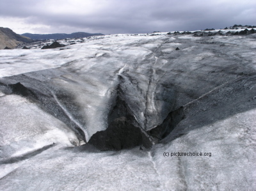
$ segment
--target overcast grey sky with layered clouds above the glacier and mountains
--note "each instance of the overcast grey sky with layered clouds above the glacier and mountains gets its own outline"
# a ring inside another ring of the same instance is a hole
[[[255,0],[0,0],[15,33],[152,33],[256,25]]]

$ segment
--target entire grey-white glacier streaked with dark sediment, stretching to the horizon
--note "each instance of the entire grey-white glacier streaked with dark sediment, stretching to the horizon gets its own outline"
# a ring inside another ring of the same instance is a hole
[[[60,43],[0,52],[1,190],[254,190],[256,34]]]

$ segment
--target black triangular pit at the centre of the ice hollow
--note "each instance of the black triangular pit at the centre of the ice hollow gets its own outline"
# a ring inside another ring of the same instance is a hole
[[[148,137],[141,132],[139,124],[118,88],[115,105],[108,115],[108,128],[93,134],[89,144],[100,150],[120,150],[134,146],[150,147]]]

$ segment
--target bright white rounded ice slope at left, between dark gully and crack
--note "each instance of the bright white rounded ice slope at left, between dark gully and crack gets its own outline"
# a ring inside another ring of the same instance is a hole
[[[49,144],[79,145],[67,125],[45,113],[35,103],[17,95],[0,97],[1,158],[16,157]]]

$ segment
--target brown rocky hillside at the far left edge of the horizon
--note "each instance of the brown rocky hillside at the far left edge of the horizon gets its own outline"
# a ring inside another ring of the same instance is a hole
[[[20,43],[24,42],[33,42],[33,40],[28,37],[21,36],[20,34],[16,34],[9,28],[0,27],[0,49],[4,49],[5,47],[13,49]]]

